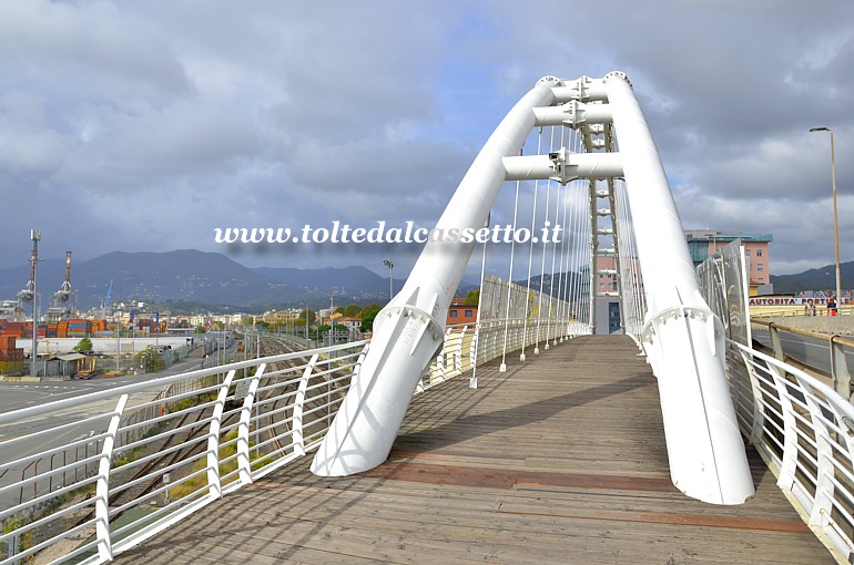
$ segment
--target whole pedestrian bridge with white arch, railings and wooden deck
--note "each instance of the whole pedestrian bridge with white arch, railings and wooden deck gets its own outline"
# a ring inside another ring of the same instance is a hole
[[[565,237],[429,239],[369,342],[0,413],[1,563],[851,562],[850,379],[754,349],[739,242],[695,269],[628,76],[522,96],[436,233],[492,215]]]

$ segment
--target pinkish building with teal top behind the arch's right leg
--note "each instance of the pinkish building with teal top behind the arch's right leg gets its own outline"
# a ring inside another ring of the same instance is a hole
[[[748,273],[750,273],[750,296],[756,296],[759,288],[771,282],[771,234],[742,234],[741,232],[718,232],[714,229],[687,229],[685,240],[694,267],[714,255],[735,239],[744,246]]]

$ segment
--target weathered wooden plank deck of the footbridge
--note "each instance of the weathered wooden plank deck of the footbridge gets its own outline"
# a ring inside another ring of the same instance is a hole
[[[588,337],[416,397],[392,456],[321,479],[307,458],[120,563],[833,563],[751,453],[741,506],[670,482],[658,389],[629,338]],[[518,356],[514,356],[514,360]]]

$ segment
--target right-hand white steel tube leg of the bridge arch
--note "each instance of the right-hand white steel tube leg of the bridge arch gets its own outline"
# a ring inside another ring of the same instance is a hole
[[[643,348],[659,379],[673,484],[694,499],[754,495],[724,377],[721,321],[703,300],[664,168],[631,84],[604,78],[647,294]]]

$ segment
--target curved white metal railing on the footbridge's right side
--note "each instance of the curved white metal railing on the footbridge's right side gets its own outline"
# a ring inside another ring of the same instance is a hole
[[[854,554],[854,407],[800,369],[728,340],[742,433],[840,563]]]

